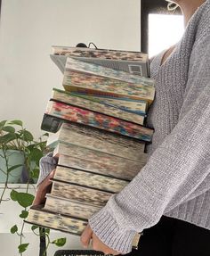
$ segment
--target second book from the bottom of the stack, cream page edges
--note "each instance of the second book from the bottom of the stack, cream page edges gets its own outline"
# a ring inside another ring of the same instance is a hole
[[[60,196],[46,194],[44,210],[76,218],[89,219],[95,212],[100,211],[101,207],[86,202],[78,202]]]

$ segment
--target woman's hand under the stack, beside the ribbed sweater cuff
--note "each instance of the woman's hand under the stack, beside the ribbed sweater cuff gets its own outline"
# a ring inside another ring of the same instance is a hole
[[[85,227],[85,230],[83,231],[83,234],[80,237],[80,241],[83,244],[83,246],[87,248],[91,240],[93,250],[95,251],[100,251],[103,252],[104,254],[120,254],[119,252],[109,248],[109,246],[107,246],[106,244],[102,243],[99,237],[93,233],[93,230],[90,227],[90,225],[87,225],[87,227]]]

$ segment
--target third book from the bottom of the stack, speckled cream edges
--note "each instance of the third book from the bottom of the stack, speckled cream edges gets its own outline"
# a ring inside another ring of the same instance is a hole
[[[51,194],[102,207],[108,202],[109,197],[113,193],[96,188],[71,184],[70,182],[53,180]]]

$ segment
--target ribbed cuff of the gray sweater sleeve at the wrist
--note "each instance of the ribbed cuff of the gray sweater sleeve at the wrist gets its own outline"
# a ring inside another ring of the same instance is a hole
[[[89,224],[101,241],[109,248],[120,252],[132,251],[134,231],[120,230],[117,221],[109,214],[106,207],[101,209],[89,219]]]

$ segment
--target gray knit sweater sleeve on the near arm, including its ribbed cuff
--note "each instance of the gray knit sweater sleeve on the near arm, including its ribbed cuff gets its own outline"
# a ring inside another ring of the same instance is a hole
[[[177,125],[133,181],[89,219],[93,232],[118,252],[130,252],[135,232],[152,227],[164,213],[200,194],[199,187],[209,178],[210,40],[206,39],[190,57]]]

